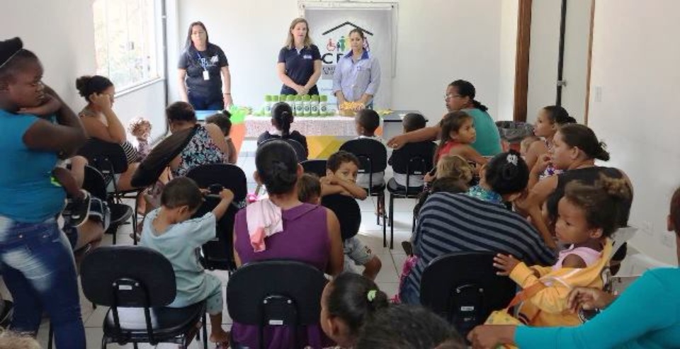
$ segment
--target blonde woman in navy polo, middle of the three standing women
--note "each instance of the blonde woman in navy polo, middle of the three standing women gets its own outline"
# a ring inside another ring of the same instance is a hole
[[[278,52],[278,78],[283,82],[283,95],[317,95],[317,81],[321,76],[321,54],[312,44],[309,25],[305,18],[290,23],[288,40]]]

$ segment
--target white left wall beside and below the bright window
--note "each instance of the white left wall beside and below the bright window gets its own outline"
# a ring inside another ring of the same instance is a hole
[[[92,0],[4,1],[0,40],[21,37],[45,68],[44,81],[78,112],[85,101],[78,95],[78,76],[96,73]],[[154,122],[152,137],[165,132],[162,82],[118,96],[114,111],[123,124],[137,116]],[[133,137],[128,136],[132,140]]]

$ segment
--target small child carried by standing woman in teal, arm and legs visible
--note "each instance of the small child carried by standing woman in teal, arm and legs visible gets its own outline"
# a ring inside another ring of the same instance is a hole
[[[52,95],[50,93],[51,88],[45,86],[45,90]],[[57,122],[55,113],[59,110],[61,104],[62,102],[55,98],[46,97],[42,105],[34,108],[21,108],[19,113],[35,115],[38,118],[55,123]],[[57,154],[57,156],[60,158],[60,161],[52,169],[52,180],[56,182],[57,186],[61,185],[69,196],[62,214],[68,220],[67,224],[73,227],[80,227],[87,221],[91,201],[90,193],[81,189],[85,179],[87,159],[83,156],[74,156],[71,159],[63,159],[63,154]]]

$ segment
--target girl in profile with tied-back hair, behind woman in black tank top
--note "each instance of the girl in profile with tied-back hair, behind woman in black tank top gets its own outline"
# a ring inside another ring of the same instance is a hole
[[[547,154],[555,144],[553,144],[553,138],[557,133],[557,129],[560,126],[567,124],[576,123],[576,119],[572,118],[565,108],[559,105],[548,105],[538,112],[538,118],[536,118],[536,124],[533,126],[533,134],[536,137],[542,137],[543,142],[534,142],[528,149],[526,149],[526,165],[529,169],[533,169],[533,166],[538,164],[538,159],[543,155]],[[545,170],[540,173],[538,178],[531,178],[529,180],[529,188],[536,184],[538,179],[543,179],[545,177],[553,176],[554,174],[562,173],[553,166],[553,164],[547,164]]]

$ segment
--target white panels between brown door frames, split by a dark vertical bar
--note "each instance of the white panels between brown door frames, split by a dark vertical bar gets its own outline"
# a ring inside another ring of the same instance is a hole
[[[562,79],[567,81],[567,86],[562,88],[562,106],[578,122],[584,121],[586,110],[590,6],[591,0],[567,1],[565,60],[562,71]],[[528,122],[536,120],[540,108],[555,104],[561,11],[562,0],[533,1],[531,5]]]

